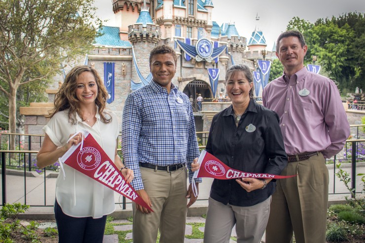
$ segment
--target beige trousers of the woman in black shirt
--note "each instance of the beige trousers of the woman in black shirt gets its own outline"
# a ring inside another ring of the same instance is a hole
[[[209,198],[204,243],[229,243],[236,225],[237,243],[260,243],[270,213],[271,197],[250,207],[224,205]]]

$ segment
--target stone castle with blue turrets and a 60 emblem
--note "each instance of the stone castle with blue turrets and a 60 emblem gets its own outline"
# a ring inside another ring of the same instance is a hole
[[[149,53],[156,45],[175,49],[178,62],[172,82],[179,90],[194,100],[199,93],[205,98],[203,112],[194,112],[197,131],[209,131],[212,116],[230,105],[224,102],[213,108],[209,105],[210,99],[218,98],[220,93],[225,95],[227,67],[245,64],[255,70],[256,61],[264,58],[262,50],[267,45],[262,32],[255,29],[247,42],[235,24],[219,25],[214,21],[212,0],[112,0],[111,7],[118,27],[103,26],[99,30],[101,35],[95,39],[85,64],[104,77],[110,94],[107,108],[118,119],[122,117],[127,96],[151,81]],[[275,48],[274,45],[274,50],[266,51],[266,59],[275,57]],[[69,65],[66,72],[71,68]],[[214,85],[209,69],[216,74]],[[47,106],[52,105],[58,87],[53,88],[48,92],[51,95]],[[47,108],[51,109],[44,107],[42,112]]]

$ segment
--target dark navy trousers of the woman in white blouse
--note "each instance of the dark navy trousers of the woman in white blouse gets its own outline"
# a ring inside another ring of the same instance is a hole
[[[76,218],[66,215],[55,203],[54,213],[59,243],[103,243],[107,215],[101,218]]]

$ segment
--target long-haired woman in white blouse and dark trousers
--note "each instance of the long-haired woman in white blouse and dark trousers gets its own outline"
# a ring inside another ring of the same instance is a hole
[[[87,130],[121,171],[127,183],[133,171],[127,169],[116,152],[118,119],[105,109],[108,92],[98,72],[88,66],[74,67],[65,78],[54,100],[51,118],[44,126],[37,166],[54,164],[69,148],[82,139]],[[56,217],[60,243],[102,243],[107,215],[115,210],[114,191],[68,165],[66,178],[59,173],[56,181]]]

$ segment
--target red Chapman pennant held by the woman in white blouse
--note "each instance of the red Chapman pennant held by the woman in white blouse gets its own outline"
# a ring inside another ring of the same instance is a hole
[[[73,145],[60,158],[61,162],[153,212],[133,187],[125,182],[122,173],[93,136],[85,130],[82,134],[85,137],[83,145],[82,143]],[[80,145],[81,149],[77,149]]]

